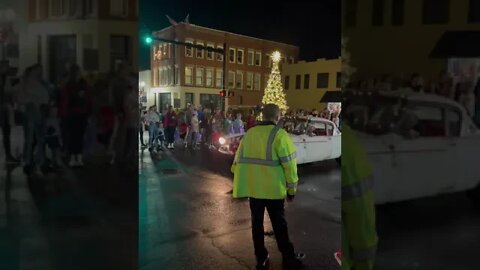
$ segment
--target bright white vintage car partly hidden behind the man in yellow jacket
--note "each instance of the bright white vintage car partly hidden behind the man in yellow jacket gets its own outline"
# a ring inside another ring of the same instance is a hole
[[[340,158],[342,137],[338,127],[323,118],[284,119],[282,127],[292,137],[297,149],[297,163],[312,163]],[[233,156],[243,134],[219,138],[218,151]]]

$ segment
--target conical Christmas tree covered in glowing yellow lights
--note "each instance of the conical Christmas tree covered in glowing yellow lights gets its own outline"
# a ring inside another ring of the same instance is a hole
[[[267,87],[265,88],[262,103],[264,105],[276,104],[280,108],[280,111],[283,115],[287,112],[288,106],[285,92],[283,91],[282,75],[280,74],[279,68],[279,63],[281,59],[280,52],[273,52],[271,58],[273,62],[273,67],[272,72],[270,73],[270,78],[268,78]]]

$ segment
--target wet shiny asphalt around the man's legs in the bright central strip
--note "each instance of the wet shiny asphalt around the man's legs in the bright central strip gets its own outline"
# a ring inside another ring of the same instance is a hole
[[[209,150],[140,155],[139,269],[254,269],[248,201],[232,199],[229,165]],[[286,207],[292,242],[307,253],[307,269],[339,269],[340,169],[322,162],[299,175],[297,198]],[[281,269],[274,238],[265,243],[272,269]]]

